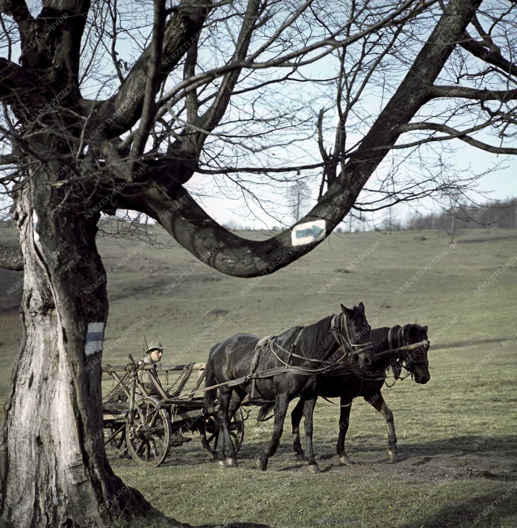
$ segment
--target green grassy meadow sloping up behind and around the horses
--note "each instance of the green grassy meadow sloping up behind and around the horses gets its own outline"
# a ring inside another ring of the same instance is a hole
[[[0,231],[0,243],[13,237]],[[517,232],[465,231],[453,248],[436,231],[335,234],[258,281],[221,275],[163,234],[157,241],[161,249],[99,239],[112,270],[105,362],[140,357],[144,332],[168,346],[164,363],[205,361],[212,344],[236,332],[279,333],[361,300],[372,327],[417,320],[431,340],[430,382],[408,378],[383,391],[398,463],[388,462],[380,414],[356,401],[346,441],[356,464],[339,466],[339,408],[322,401],[314,424],[321,474],[294,460],[289,419],[266,473],[254,459],[271,422],[252,419],[236,469],[218,468],[198,437],[156,469],[113,458],[115,472],[159,510],[190,524],[517,526]],[[20,277],[0,271],[2,402],[20,336]]]

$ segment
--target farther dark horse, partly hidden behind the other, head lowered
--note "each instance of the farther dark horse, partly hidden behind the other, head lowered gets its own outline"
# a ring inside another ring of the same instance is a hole
[[[403,327],[374,328],[370,334],[374,353],[384,352],[393,348],[427,341],[427,326],[405,325]],[[397,460],[397,437],[393,424],[393,413],[390,411],[381,393],[386,380],[386,369],[392,366],[396,377],[400,375],[402,366],[412,374],[417,383],[427,383],[429,361],[427,352],[429,345],[421,346],[413,351],[401,352],[396,356],[384,357],[368,365],[366,373],[359,369],[351,369],[347,365],[337,365],[318,378],[317,393],[325,398],[341,398],[341,413],[339,421],[339,437],[337,439],[337,455],[341,464],[353,464],[346,454],[344,444],[346,431],[349,427],[352,400],[362,396],[374,409],[377,409],[388,423],[388,456],[392,461]],[[368,364],[368,358],[363,360]],[[375,373],[374,371],[377,371]],[[311,436],[312,445],[312,413],[316,399],[300,398],[291,413],[293,425],[293,448],[299,460],[305,460],[306,455],[300,444],[300,421],[305,418],[306,436]],[[307,455],[308,457],[309,455]],[[312,456],[312,455],[311,455]]]

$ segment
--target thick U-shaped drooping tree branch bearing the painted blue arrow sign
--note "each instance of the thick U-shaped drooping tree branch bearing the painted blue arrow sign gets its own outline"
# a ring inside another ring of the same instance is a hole
[[[183,247],[225,274],[253,277],[270,274],[311,251],[349,212],[362,187],[400,136],[418,109],[429,100],[429,88],[452,53],[458,35],[475,14],[481,0],[451,0],[433,34],[399,88],[351,156],[345,171],[328,187],[322,199],[296,225],[324,221],[323,237],[296,244],[293,227],[264,241],[247,240],[224,229],[181,187],[171,196],[163,187],[144,188],[136,209],[163,225]],[[386,148],[372,154],[379,145]],[[135,208],[135,203],[131,204]],[[309,224],[311,225],[311,224]],[[313,225],[313,224],[312,224]]]

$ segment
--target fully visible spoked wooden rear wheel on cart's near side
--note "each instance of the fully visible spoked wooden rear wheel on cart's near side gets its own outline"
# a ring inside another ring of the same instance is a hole
[[[133,423],[126,423],[129,454],[138,464],[157,467],[167,458],[171,420],[156,398],[144,396],[135,402]]]

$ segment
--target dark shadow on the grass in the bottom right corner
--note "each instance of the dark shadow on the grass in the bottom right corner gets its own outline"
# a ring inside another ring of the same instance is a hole
[[[501,486],[490,495],[472,497],[440,508],[437,513],[401,524],[400,528],[456,528],[458,526],[500,526],[505,518],[517,514],[517,486]],[[513,491],[512,491],[513,490]]]

